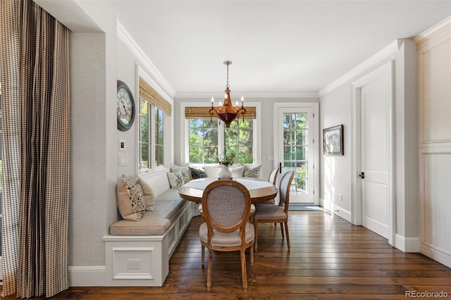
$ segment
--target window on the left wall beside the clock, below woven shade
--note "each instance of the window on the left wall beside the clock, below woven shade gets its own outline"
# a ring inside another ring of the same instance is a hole
[[[154,137],[152,137],[152,124],[155,128]],[[152,151],[152,138],[154,138],[154,151]],[[141,171],[153,167],[152,157],[156,162],[154,167],[164,164],[164,113],[144,99],[140,99]]]

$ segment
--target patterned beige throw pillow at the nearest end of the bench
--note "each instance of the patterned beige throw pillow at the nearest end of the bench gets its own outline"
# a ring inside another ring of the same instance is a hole
[[[141,185],[122,175],[116,185],[119,213],[124,220],[139,221],[146,211]]]

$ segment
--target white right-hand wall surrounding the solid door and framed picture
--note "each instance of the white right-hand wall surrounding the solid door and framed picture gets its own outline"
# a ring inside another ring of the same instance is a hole
[[[395,62],[395,233],[400,240],[418,237],[416,189],[416,48],[412,39],[403,40],[400,48],[354,74],[346,82],[321,96],[321,130],[345,125],[345,155],[323,156],[321,147],[321,200],[333,204],[333,210],[351,221],[352,211],[352,87],[355,80],[388,61]],[[342,194],[342,201],[338,199]],[[404,249],[404,245],[396,245]]]

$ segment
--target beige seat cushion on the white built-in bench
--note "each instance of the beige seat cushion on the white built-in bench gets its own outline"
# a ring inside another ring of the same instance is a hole
[[[154,211],[146,211],[139,222],[120,220],[111,224],[110,235],[164,235],[183,204],[178,189],[168,189],[156,197]]]

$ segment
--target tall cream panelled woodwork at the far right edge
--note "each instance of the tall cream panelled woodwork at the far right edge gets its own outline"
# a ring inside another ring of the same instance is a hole
[[[414,41],[419,95],[419,250],[451,268],[451,17]]]

